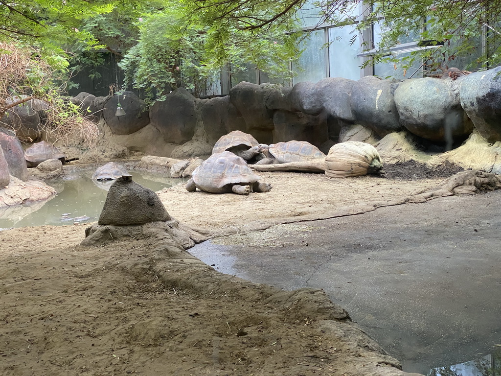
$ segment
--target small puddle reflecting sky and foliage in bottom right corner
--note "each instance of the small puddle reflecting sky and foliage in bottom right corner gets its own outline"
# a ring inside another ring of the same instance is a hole
[[[501,376],[501,349],[465,363],[433,368],[428,376]]]

